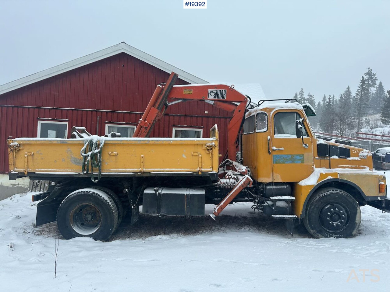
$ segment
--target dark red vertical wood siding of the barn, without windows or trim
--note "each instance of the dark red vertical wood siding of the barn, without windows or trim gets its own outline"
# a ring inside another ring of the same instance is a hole
[[[106,121],[137,123],[156,85],[168,76],[121,53],[0,95],[0,173],[9,170],[7,137],[37,137],[38,118],[67,120],[68,137],[76,125],[86,127],[91,134],[104,135]],[[176,84],[188,83],[178,79]],[[180,125],[201,126],[203,136],[209,137],[209,129],[217,124],[220,153],[224,155],[230,115],[204,102],[175,104],[155,125],[152,135],[172,137],[173,125]]]

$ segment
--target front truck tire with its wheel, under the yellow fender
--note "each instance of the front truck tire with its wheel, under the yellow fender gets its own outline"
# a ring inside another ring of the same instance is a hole
[[[303,223],[315,238],[352,237],[362,214],[358,202],[338,188],[323,188],[310,198]]]

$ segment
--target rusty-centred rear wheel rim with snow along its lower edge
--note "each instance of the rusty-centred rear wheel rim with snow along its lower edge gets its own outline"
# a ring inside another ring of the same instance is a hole
[[[69,216],[70,225],[81,235],[91,235],[101,226],[101,213],[92,204],[79,204],[73,208]]]

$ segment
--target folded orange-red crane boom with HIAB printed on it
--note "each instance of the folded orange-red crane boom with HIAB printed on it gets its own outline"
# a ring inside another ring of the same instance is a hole
[[[232,112],[227,128],[227,158],[236,160],[236,141],[241,130],[248,98],[225,84],[174,85],[178,75],[172,72],[166,84],[154,91],[133,137],[149,137],[154,123],[160,120],[168,106],[186,100],[202,100],[225,111]],[[172,102],[167,100],[172,99]]]

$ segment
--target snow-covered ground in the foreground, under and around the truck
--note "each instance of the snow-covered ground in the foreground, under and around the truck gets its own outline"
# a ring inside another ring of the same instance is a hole
[[[2,291],[367,291],[390,284],[390,214],[368,206],[351,239],[312,239],[303,227],[291,237],[282,221],[244,203],[229,205],[216,222],[143,215],[110,242],[59,239],[54,278],[58,230],[33,226],[30,200],[28,193],[0,202]]]

